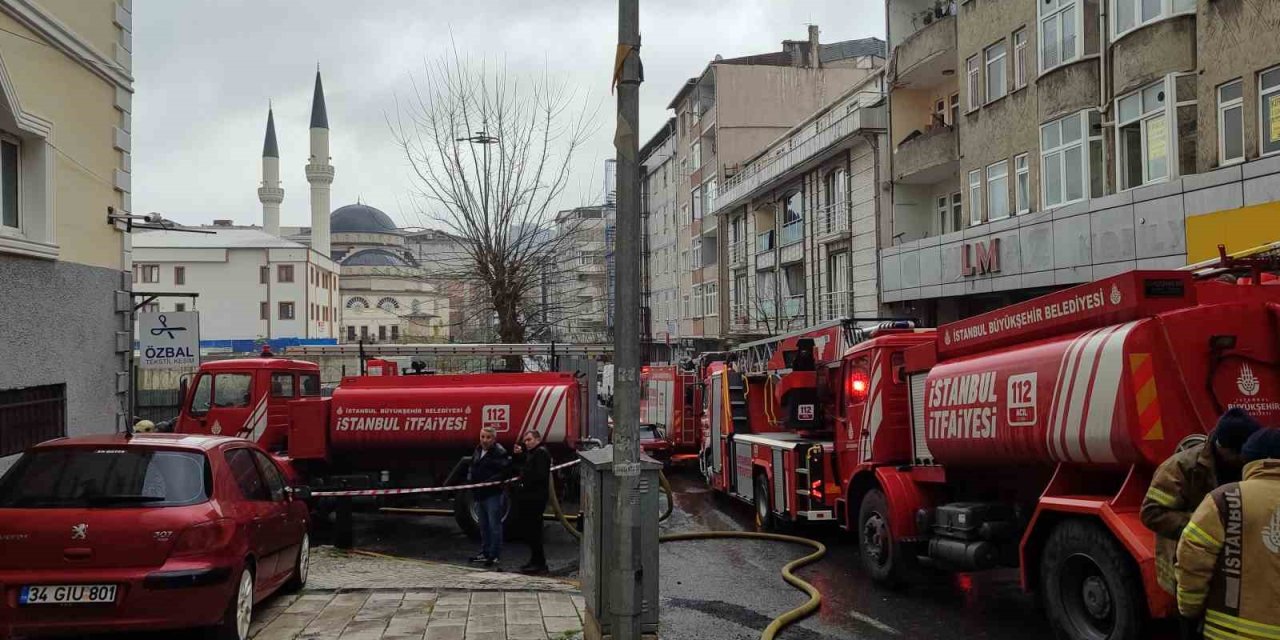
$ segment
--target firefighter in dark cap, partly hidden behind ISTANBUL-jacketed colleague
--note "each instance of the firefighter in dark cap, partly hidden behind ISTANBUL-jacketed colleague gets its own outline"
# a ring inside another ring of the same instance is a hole
[[[1156,579],[1170,595],[1176,594],[1174,553],[1183,527],[1213,488],[1240,479],[1240,447],[1260,426],[1231,407],[1203,444],[1175,453],[1156,470],[1142,500],[1142,524],[1156,532]]]

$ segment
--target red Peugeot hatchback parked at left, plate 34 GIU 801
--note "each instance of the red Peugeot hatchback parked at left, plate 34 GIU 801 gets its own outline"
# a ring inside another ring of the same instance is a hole
[[[239,438],[61,438],[0,479],[0,637],[214,627],[307,579],[305,488]]]

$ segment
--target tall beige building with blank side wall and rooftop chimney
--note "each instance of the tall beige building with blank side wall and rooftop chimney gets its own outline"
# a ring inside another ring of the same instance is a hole
[[[762,148],[864,81],[883,61],[884,42],[877,38],[823,45],[818,36],[818,27],[810,26],[808,40],[783,41],[781,51],[717,56],[676,92],[668,105],[675,123],[654,138],[662,137],[662,142],[645,145],[653,152],[669,143],[669,155],[662,156],[669,168],[649,168],[644,175],[650,180],[666,175],[673,183],[666,219],[657,216],[650,204],[649,228],[671,229],[659,233],[664,238],[669,233],[675,241],[650,242],[649,247],[653,282],[673,280],[669,288],[655,285],[650,292],[649,330],[655,342],[662,334],[662,340],[684,349],[722,346],[728,337],[721,296],[724,243],[719,219],[710,215],[721,186]]]

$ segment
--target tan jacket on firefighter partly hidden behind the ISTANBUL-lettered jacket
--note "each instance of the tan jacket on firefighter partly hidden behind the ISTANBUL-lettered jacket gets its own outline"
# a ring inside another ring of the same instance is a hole
[[[1178,538],[1183,535],[1192,512],[1215,486],[1213,448],[1204,443],[1188,447],[1162,462],[1142,500],[1142,524],[1156,532],[1156,580],[1170,594],[1176,593],[1174,554],[1178,552]]]

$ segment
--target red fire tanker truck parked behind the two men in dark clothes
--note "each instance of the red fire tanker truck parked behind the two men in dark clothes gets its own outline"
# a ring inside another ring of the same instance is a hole
[[[183,390],[174,430],[256,440],[316,492],[462,484],[485,426],[508,449],[536,430],[559,460],[590,435],[604,435],[605,416],[586,380],[612,346],[339,344],[293,352],[358,355],[365,375],[343,378],[325,397],[311,361],[265,353],[205,362]],[[563,370],[435,375],[398,365],[425,355],[544,358]],[[475,535],[470,492],[453,492],[453,507],[458,525]]]

